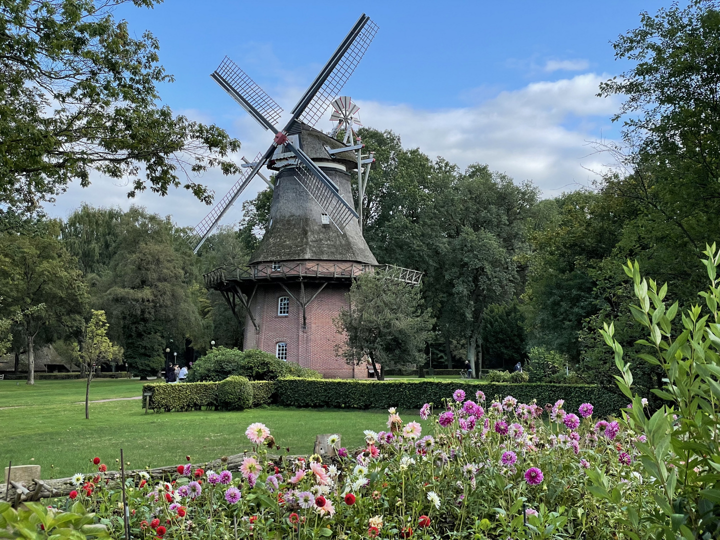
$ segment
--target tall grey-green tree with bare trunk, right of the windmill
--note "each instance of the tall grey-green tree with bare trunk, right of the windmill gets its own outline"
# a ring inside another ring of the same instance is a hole
[[[518,186],[509,176],[474,164],[435,203],[436,262],[426,286],[438,299],[433,303],[438,327],[467,343],[473,376],[482,371],[485,310],[522,292],[527,223],[537,197],[531,184]]]

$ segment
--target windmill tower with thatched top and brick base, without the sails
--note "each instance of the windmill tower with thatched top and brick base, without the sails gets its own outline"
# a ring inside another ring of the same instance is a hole
[[[292,138],[343,198],[353,200],[350,173],[357,168],[356,153],[329,153],[344,145],[306,126]],[[350,366],[338,355],[336,346],[344,336],[333,319],[348,307],[352,279],[379,265],[357,220],[341,232],[300,184],[291,153],[279,147],[269,166],[277,174],[260,246],[247,267],[218,269],[207,274],[207,284],[225,295],[234,312],[238,302],[246,307],[244,348],[259,348],[325,377],[366,378],[364,366]],[[403,281],[420,281],[420,272],[396,271]]]

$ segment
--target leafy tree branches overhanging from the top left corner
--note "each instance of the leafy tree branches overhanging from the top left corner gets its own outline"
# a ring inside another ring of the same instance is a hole
[[[35,210],[74,179],[89,185],[91,171],[134,178],[130,197],[182,185],[209,203],[191,173],[240,170],[228,158],[238,140],[158,104],[158,84],[173,78],[150,32],[133,39],[127,22],[114,20],[127,2],[0,4],[0,204],[11,215]]]

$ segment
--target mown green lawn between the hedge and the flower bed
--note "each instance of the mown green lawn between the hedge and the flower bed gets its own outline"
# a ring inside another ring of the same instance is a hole
[[[131,397],[140,394],[142,383],[118,379],[96,380],[91,399]],[[386,429],[387,412],[337,409],[269,407],[239,412],[150,412],[140,401],[91,403],[85,420],[82,380],[38,381],[35,387],[0,381],[0,467],[39,464],[43,478],[68,477],[89,469],[88,460],[100,456],[108,467],[125,452],[130,467],[160,467],[185,462],[204,462],[250,449],[245,429],[263,422],[278,444],[292,454],[312,451],[315,435],[340,433],[343,446],[359,446],[363,430]],[[413,415],[413,420],[418,416]]]

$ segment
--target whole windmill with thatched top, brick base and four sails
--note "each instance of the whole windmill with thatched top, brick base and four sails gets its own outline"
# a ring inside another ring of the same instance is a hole
[[[348,366],[338,353],[343,338],[333,319],[348,307],[352,280],[381,267],[363,238],[361,204],[356,211],[351,189],[357,171],[362,197],[374,158],[363,155],[364,145],[353,129],[356,106],[338,97],[376,32],[377,26],[363,14],[282,129],[277,127],[279,105],[232,60],[222,60],[212,78],[275,135],[264,153],[243,164],[233,189],[188,238],[197,253],[261,168],[276,171],[269,223],[248,265],[215,269],[205,274],[205,284],[225,297],[243,325],[243,348],[259,348],[327,377],[356,377],[355,366]],[[341,114],[336,121],[350,126],[344,142],[314,128],[333,102]],[[414,270],[382,268],[409,284],[418,284],[422,277]]]

